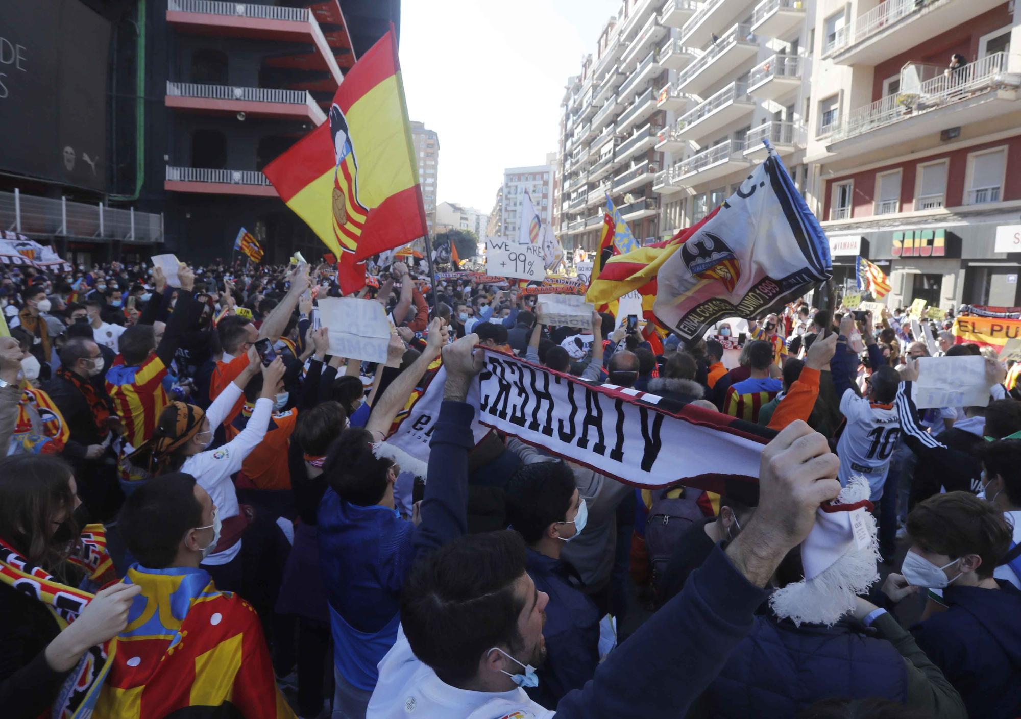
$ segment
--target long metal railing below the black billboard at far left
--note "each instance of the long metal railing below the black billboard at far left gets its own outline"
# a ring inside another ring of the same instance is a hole
[[[0,228],[25,235],[162,242],[163,215],[65,198],[0,192]]]

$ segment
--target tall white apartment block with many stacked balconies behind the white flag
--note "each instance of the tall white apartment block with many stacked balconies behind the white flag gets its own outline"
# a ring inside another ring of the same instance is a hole
[[[815,3],[623,0],[563,101],[561,232],[594,249],[609,192],[636,238],[703,218],[777,149],[800,187]]]

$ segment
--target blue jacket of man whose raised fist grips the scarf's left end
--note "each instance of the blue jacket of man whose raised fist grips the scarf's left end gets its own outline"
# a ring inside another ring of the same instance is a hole
[[[396,641],[400,589],[418,554],[467,531],[474,414],[464,402],[444,401],[440,408],[418,527],[394,510],[352,505],[333,489],[320,502],[320,566],[330,604],[334,663],[359,689],[376,686],[376,665]],[[436,481],[428,481],[434,477]]]

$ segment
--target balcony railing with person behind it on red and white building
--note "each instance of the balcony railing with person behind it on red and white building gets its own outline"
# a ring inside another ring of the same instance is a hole
[[[881,100],[858,107],[850,111],[839,128],[833,129],[832,142],[968,99],[972,93],[995,87],[998,76],[1006,69],[1007,53],[995,52],[964,67],[924,81],[917,86],[917,92],[887,95]]]

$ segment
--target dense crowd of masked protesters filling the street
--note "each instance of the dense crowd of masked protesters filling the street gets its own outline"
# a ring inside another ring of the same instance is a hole
[[[1021,716],[1021,368],[903,309],[799,300],[685,345],[370,270],[385,365],[329,353],[327,265],[0,267],[4,716]],[[775,436],[721,493],[476,442],[480,345]],[[914,405],[919,357],[971,354],[987,402]],[[885,578],[804,621],[781,597],[854,486]]]

